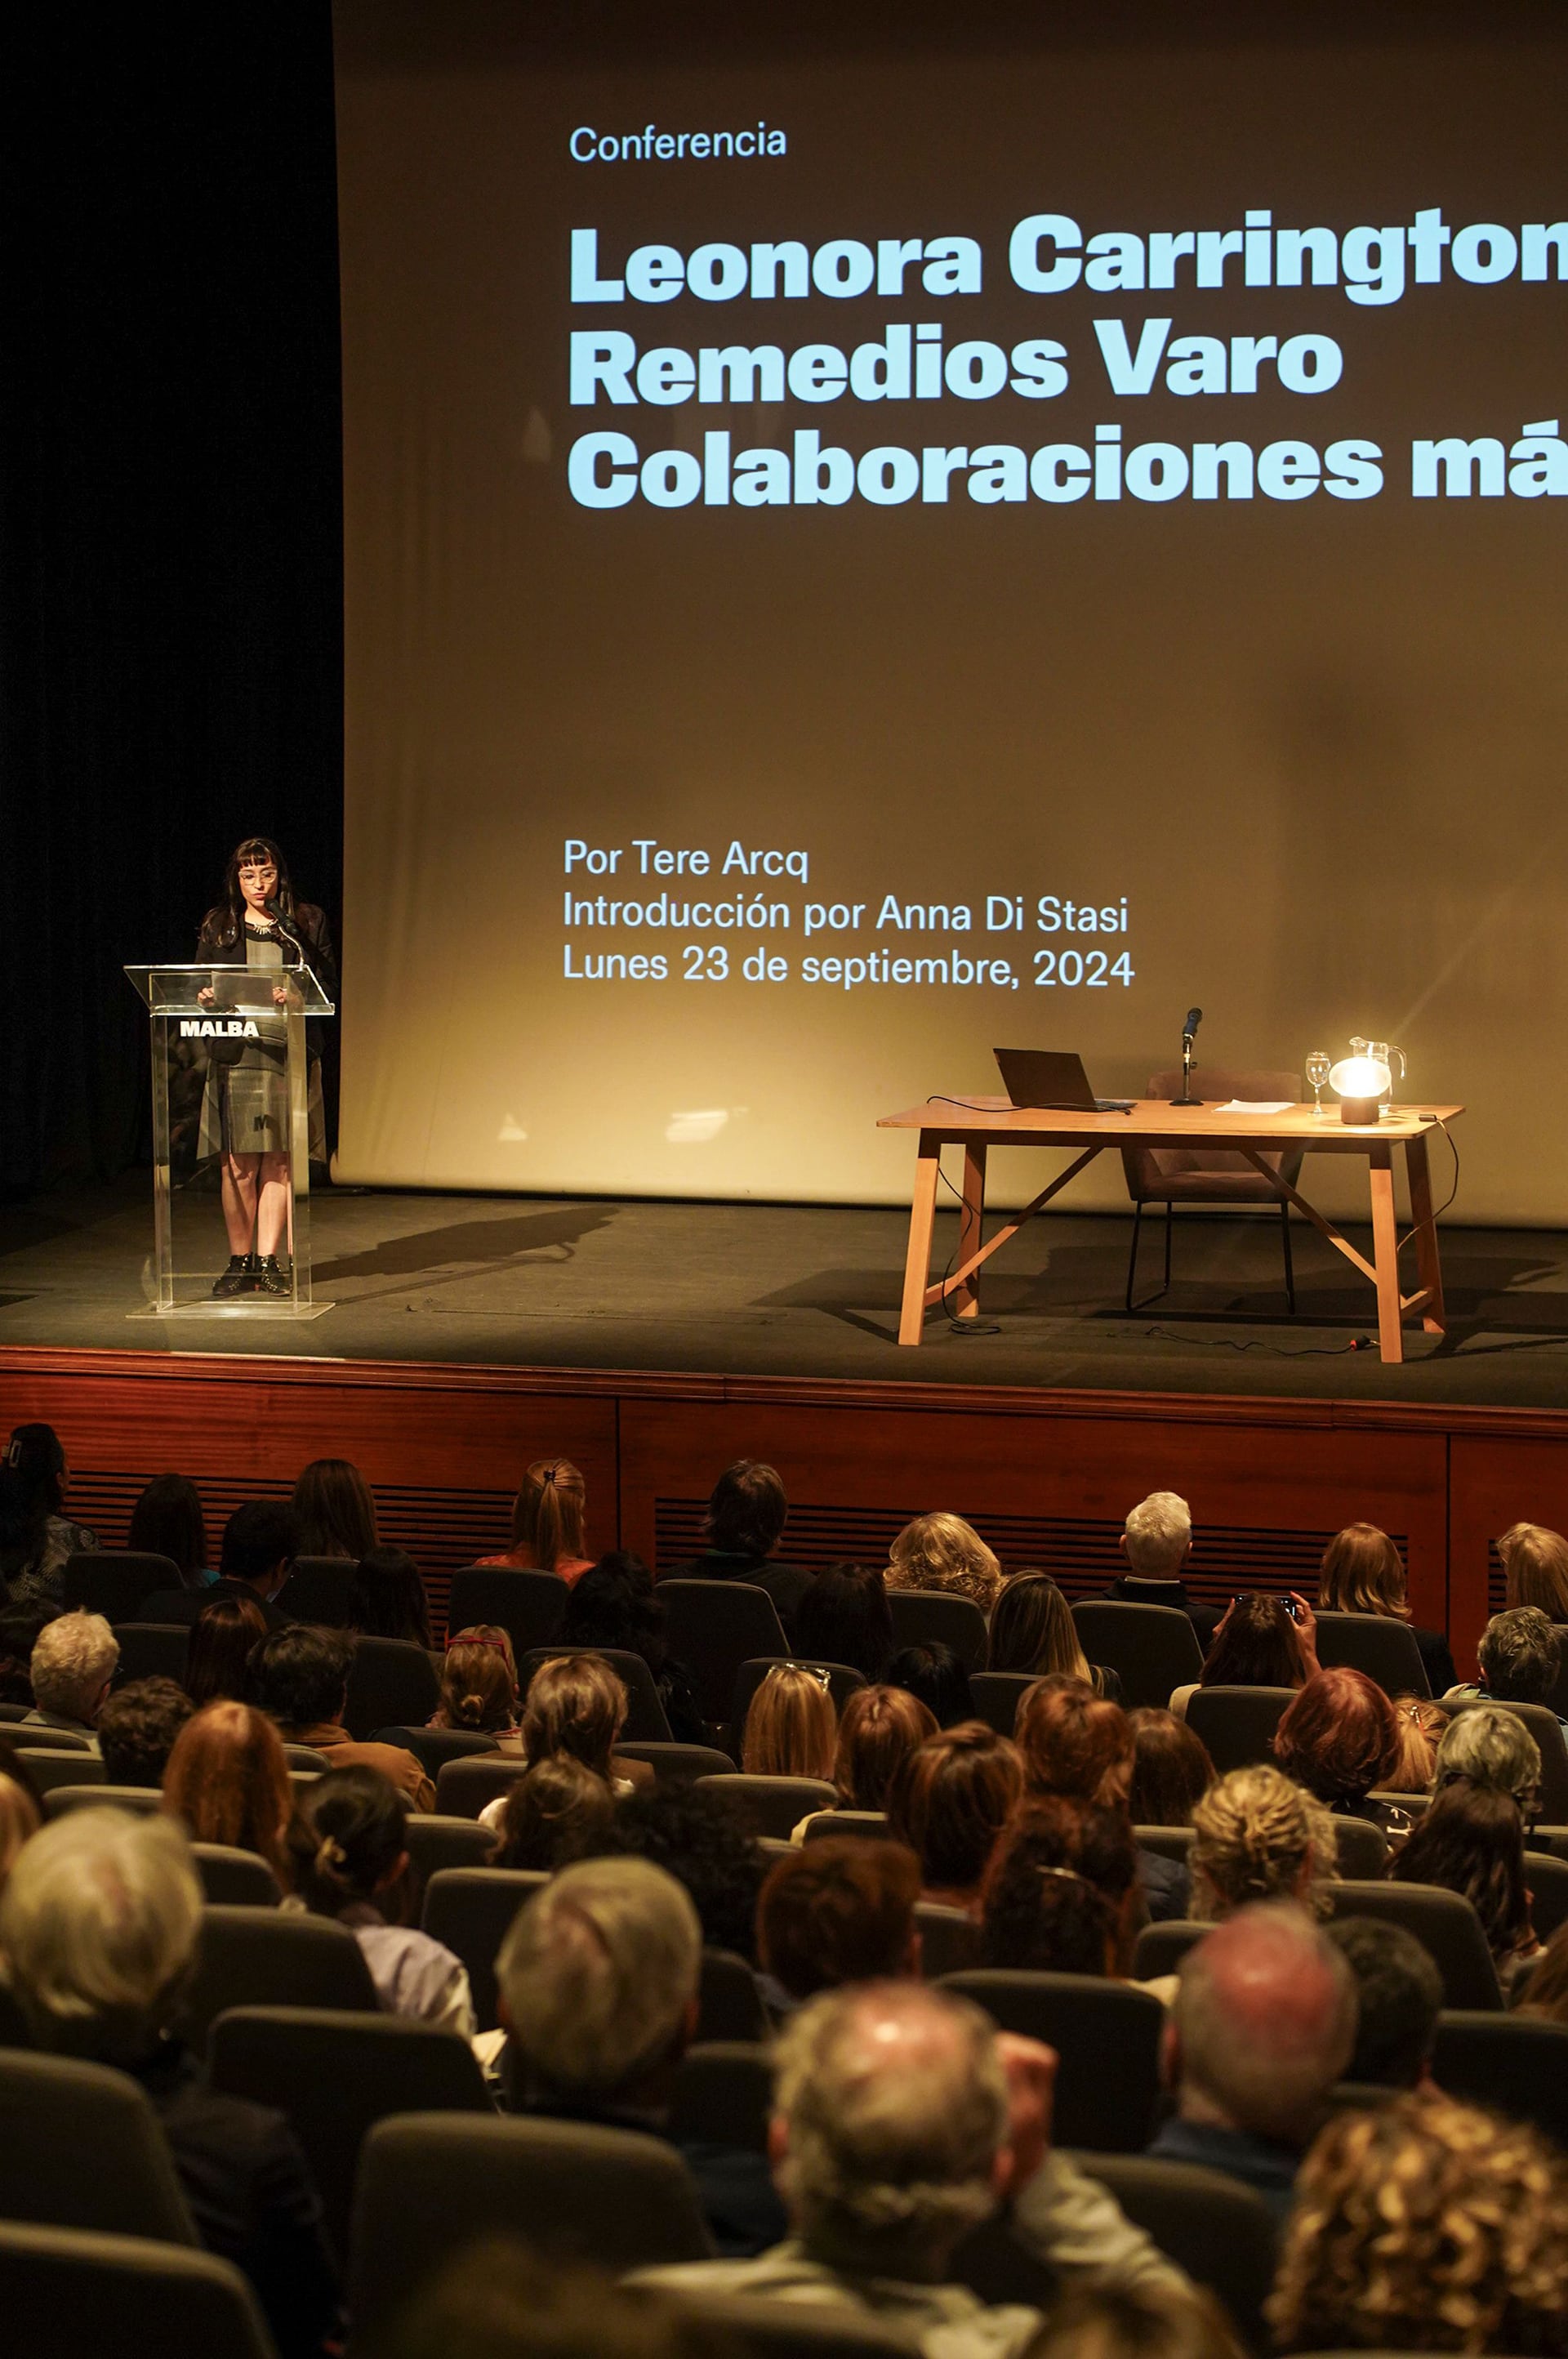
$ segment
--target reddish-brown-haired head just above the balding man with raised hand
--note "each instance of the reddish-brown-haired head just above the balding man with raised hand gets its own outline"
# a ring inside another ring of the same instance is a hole
[[[790,2015],[842,1982],[920,1972],[920,1861],[903,1842],[825,1835],[769,1868],[757,1901],[762,1996]]]

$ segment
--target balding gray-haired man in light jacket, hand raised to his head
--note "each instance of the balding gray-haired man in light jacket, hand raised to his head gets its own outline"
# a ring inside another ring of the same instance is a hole
[[[953,1991],[823,1991],[778,2041],[769,2154],[788,2241],[644,2281],[835,2302],[877,2314],[929,2359],[1016,2359],[1040,2312],[948,2284],[962,2236],[1009,2201],[1014,2236],[1061,2279],[1186,2286],[1103,2187],[1047,2151],[1054,2071],[1049,2048],[997,2033]]]

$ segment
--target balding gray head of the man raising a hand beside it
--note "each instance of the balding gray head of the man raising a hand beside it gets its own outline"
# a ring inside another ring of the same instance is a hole
[[[950,1991],[825,1991],[778,2043],[773,2154],[813,2258],[941,2274],[995,2203],[1007,2081],[995,2026]]]

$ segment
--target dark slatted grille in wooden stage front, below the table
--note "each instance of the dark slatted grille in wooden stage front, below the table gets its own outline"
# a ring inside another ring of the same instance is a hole
[[[655,1500],[653,1533],[660,1569],[696,1557],[703,1550],[705,1510],[707,1500],[700,1498]],[[839,1557],[851,1564],[887,1564],[891,1540],[913,1522],[915,1512],[896,1507],[790,1507],[783,1555],[792,1564],[806,1564],[811,1571]],[[1052,1514],[986,1514],[979,1510],[964,1519],[995,1548],[1004,1571],[1014,1573],[1023,1566],[1047,1571],[1061,1583],[1068,1597],[1087,1597],[1094,1590],[1103,1590],[1106,1583],[1127,1571],[1127,1559],[1120,1550],[1120,1522]],[[1271,1531],[1247,1524],[1203,1526],[1193,1538],[1193,1555],[1184,1566],[1184,1581],[1193,1597],[1214,1606],[1224,1606],[1233,1590],[1302,1590],[1311,1597],[1318,1588],[1323,1550],[1332,1538],[1332,1531]],[[1403,1555],[1408,1536],[1396,1531],[1391,1538]]]

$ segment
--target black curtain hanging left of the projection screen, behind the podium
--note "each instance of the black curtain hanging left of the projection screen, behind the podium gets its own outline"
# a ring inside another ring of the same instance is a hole
[[[19,21],[21,19],[21,21]],[[337,922],[328,0],[0,35],[0,1194],[149,1144],[127,960],[276,835]]]

